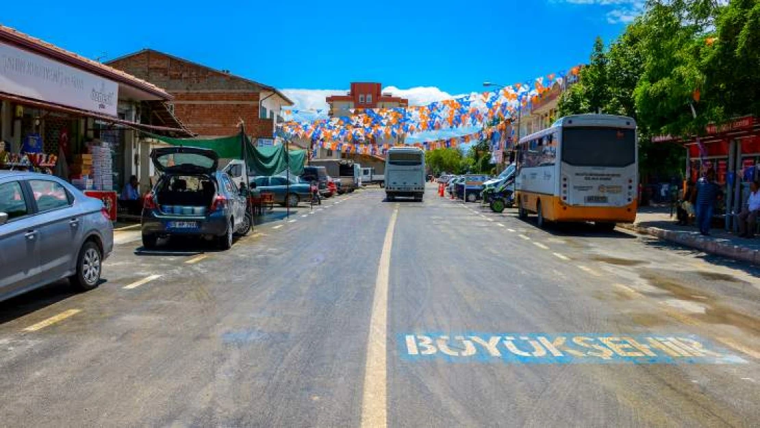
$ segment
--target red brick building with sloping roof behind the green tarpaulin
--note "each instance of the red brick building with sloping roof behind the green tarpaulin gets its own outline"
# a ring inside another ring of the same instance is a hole
[[[293,102],[274,87],[153,49],[107,62],[173,94],[174,114],[203,137],[233,135],[239,119],[252,138],[273,138],[283,106]]]

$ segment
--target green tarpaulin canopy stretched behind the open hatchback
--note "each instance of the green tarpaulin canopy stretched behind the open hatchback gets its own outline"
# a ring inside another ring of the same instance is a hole
[[[268,147],[255,147],[251,140],[243,135],[231,135],[223,138],[169,138],[161,135],[150,134],[152,138],[163,141],[166,144],[174,146],[201,147],[211,149],[223,159],[243,159],[242,141],[245,139],[246,163],[249,170],[256,175],[274,176],[288,169],[290,163],[290,173],[294,176],[300,176],[303,173],[303,164],[306,163],[306,151],[291,150],[286,153],[283,144]]]

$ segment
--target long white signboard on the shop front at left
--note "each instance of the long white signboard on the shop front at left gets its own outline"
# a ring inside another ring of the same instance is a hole
[[[0,90],[116,116],[119,84],[42,55],[0,43]]]

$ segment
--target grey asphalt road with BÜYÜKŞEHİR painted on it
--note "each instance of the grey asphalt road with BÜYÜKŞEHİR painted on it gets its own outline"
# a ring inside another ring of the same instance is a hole
[[[758,426],[757,269],[383,196],[0,303],[0,426]]]

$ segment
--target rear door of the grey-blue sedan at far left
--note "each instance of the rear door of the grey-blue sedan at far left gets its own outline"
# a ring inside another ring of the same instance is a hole
[[[40,268],[43,279],[57,281],[68,274],[78,256],[82,214],[72,203],[74,197],[52,179],[27,181],[36,205],[40,230]]]

